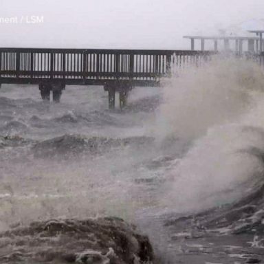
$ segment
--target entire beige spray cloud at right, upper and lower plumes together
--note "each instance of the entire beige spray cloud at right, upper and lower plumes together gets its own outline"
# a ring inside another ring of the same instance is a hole
[[[232,203],[250,188],[245,182],[262,176],[263,159],[251,150],[264,152],[263,77],[255,62],[214,58],[166,83],[159,142],[169,137],[192,142],[170,171],[162,200],[168,210]]]

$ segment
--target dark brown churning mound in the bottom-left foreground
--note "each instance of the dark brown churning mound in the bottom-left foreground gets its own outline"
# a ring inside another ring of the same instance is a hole
[[[152,263],[148,238],[122,219],[34,222],[0,234],[0,263]]]

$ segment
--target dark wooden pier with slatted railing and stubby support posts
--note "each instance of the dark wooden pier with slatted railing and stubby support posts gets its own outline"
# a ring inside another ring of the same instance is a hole
[[[212,52],[194,50],[84,50],[0,48],[0,84],[39,85],[43,100],[59,102],[66,85],[101,85],[109,108],[135,86],[158,86],[173,67],[199,64]]]

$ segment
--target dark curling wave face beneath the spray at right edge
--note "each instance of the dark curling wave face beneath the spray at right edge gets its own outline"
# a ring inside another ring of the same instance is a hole
[[[243,150],[244,152],[244,150]],[[248,148],[250,153],[264,162],[264,152],[258,148]],[[181,214],[166,221],[179,230],[192,230],[203,234],[264,234],[264,174],[254,175],[236,186],[241,198],[231,203],[216,206],[197,214]],[[232,190],[228,190],[232,191]],[[224,195],[224,193],[223,193]]]

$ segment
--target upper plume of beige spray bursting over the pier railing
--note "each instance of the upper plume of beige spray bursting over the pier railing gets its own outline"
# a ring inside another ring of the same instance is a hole
[[[214,57],[201,67],[180,69],[164,81],[157,113],[159,137],[197,138],[217,124],[236,122],[264,90],[264,72],[255,62]]]

